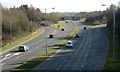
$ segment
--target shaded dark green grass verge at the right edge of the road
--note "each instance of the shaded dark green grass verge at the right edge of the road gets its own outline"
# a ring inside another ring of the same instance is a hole
[[[109,34],[106,29],[103,30],[109,39],[109,51],[103,70],[120,70],[120,44],[118,37],[115,39],[115,62],[113,63],[113,35]]]

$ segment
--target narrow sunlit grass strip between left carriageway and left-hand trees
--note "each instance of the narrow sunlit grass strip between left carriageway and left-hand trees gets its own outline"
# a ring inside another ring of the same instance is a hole
[[[26,40],[29,40],[30,38],[38,35],[38,34],[41,33],[42,31],[43,31],[43,29],[39,29],[37,32],[34,32],[34,33],[32,33],[31,35],[28,35],[28,36],[26,36],[26,37],[23,37],[23,38],[21,38],[21,39],[18,39],[18,40],[16,40],[16,41],[12,42],[11,45],[10,45],[10,44],[5,45],[4,47],[2,47],[2,50],[0,50],[0,52],[1,52],[1,51],[3,52],[3,51],[5,51],[5,50],[8,50],[8,49],[10,49],[10,48],[12,48],[12,47],[14,47],[14,46],[16,46],[16,45],[18,45],[18,44],[26,41]]]

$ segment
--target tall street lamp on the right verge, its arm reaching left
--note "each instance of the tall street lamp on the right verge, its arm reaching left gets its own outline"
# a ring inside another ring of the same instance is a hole
[[[102,6],[108,6],[108,5],[102,4]],[[115,61],[115,8],[116,6],[114,5],[113,7],[114,7],[114,12],[113,12],[113,63],[114,63]]]

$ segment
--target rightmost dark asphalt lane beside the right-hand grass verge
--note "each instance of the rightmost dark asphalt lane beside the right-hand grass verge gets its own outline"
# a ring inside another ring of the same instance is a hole
[[[102,70],[108,51],[108,39],[99,28],[92,29],[92,35],[91,49],[83,70]]]

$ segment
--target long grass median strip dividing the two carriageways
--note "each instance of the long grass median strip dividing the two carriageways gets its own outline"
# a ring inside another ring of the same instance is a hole
[[[66,36],[64,39],[56,43],[54,46],[48,49],[48,54],[46,55],[46,52],[42,52],[35,58],[31,59],[28,62],[25,62],[24,64],[20,65],[16,69],[13,69],[11,72],[28,72],[31,69],[33,69],[35,66],[42,63],[44,60],[46,60],[49,56],[51,56],[53,53],[55,53],[58,49],[60,49],[61,46],[63,46],[71,37],[74,36],[74,34],[77,32],[78,28],[77,25],[73,23],[73,31],[70,33],[70,35]]]

